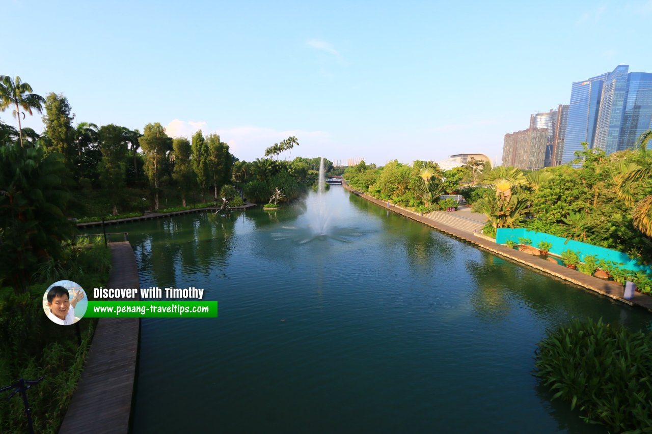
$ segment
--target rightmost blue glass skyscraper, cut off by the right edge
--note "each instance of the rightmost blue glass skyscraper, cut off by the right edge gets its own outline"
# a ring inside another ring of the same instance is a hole
[[[616,150],[623,151],[632,147],[638,137],[649,129],[652,129],[652,74],[630,72]]]

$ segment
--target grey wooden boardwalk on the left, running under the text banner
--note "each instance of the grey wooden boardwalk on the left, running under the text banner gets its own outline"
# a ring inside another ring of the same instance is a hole
[[[136,257],[129,242],[112,242],[110,248],[111,274],[106,287],[138,288]],[[92,288],[86,290],[92,295]],[[129,431],[139,339],[140,318],[99,319],[82,379],[59,433]]]

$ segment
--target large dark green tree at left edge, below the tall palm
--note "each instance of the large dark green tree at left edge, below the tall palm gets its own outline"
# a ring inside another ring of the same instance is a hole
[[[0,147],[0,285],[24,291],[40,262],[61,257],[76,230],[64,215],[67,176],[61,154]]]

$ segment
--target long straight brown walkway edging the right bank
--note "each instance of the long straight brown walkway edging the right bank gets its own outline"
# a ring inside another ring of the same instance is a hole
[[[346,184],[346,182],[342,185],[353,194],[359,195],[360,197],[363,197],[364,199],[376,203],[376,205],[387,209],[386,201],[381,201],[362,192],[356,192],[351,189],[351,187]],[[421,216],[421,214],[415,211],[396,207],[394,205],[390,205],[389,210],[396,212],[396,214],[401,214],[402,216],[410,218],[411,220],[415,220],[424,225],[428,225],[434,229],[437,229],[437,231],[443,232],[456,239],[475,244],[475,246],[478,246],[484,250],[488,250],[489,252],[495,253],[501,257],[510,259],[516,263],[527,265],[528,267],[535,268],[536,270],[547,274],[552,274],[552,276],[556,276],[557,278],[563,279],[567,282],[571,282],[575,285],[590,289],[591,291],[606,295],[607,297],[614,298],[614,300],[627,303],[630,306],[640,306],[644,309],[652,311],[652,297],[641,293],[635,293],[632,300],[625,300],[625,298],[623,298],[623,285],[620,285],[619,283],[602,280],[593,276],[587,276],[586,274],[582,274],[577,270],[571,270],[571,268],[564,267],[563,265],[551,263],[545,259],[541,259],[540,257],[508,248],[502,244],[496,244],[496,241],[489,237],[484,237],[483,235],[454,227],[454,223],[452,222],[451,225],[443,224],[442,222],[428,218],[427,215]]]

